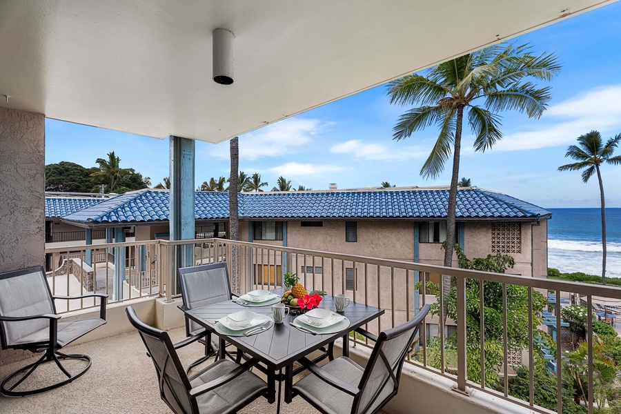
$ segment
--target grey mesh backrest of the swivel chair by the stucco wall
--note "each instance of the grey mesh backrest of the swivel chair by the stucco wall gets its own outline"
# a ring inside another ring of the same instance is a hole
[[[43,266],[0,273],[0,316],[55,314],[56,308]],[[21,339],[50,326],[50,319],[0,322],[0,340],[8,348]]]

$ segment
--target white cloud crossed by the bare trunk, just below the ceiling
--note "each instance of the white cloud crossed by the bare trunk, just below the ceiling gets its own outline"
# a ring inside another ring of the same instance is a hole
[[[248,132],[239,139],[239,158],[255,160],[295,153],[300,147],[309,144],[313,135],[317,135],[323,126],[318,119],[289,118]],[[210,155],[228,159],[228,144],[210,148]]]

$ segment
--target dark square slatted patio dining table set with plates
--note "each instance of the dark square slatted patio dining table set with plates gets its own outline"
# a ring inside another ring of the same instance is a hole
[[[270,290],[276,294],[282,294],[282,288]],[[319,308],[334,310],[334,299],[330,295],[325,295]],[[384,314],[384,309],[375,308],[364,304],[351,302],[341,313],[351,322],[348,328],[342,331],[330,334],[312,335],[295,328],[290,322],[295,316],[291,315],[284,319],[282,324],[274,324],[267,331],[256,335],[246,336],[229,336],[217,333],[215,325],[217,320],[225,317],[230,313],[237,311],[249,310],[259,315],[272,315],[271,305],[253,306],[248,308],[228,300],[218,304],[204,306],[186,311],[186,315],[197,324],[204,326],[211,333],[219,336],[220,357],[224,357],[224,344],[228,342],[237,346],[244,353],[251,357],[257,358],[266,366],[266,375],[268,382],[268,402],[272,404],[276,400],[276,381],[284,382],[284,401],[288,404],[293,400],[293,362],[302,357],[313,353],[327,345],[331,351],[332,344],[335,339],[343,338],[343,355],[349,355],[349,333],[356,328],[371,322],[373,319]],[[282,375],[282,370],[285,370]],[[280,391],[280,387],[279,387]],[[278,398],[277,411],[280,408],[280,398]]]

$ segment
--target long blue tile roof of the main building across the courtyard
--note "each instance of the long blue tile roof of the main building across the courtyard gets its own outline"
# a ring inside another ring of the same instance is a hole
[[[375,190],[242,193],[242,219],[441,218],[449,191]],[[139,190],[84,208],[63,219],[79,222],[141,223],[168,220],[168,191]],[[508,195],[469,188],[457,192],[457,218],[527,219],[551,212]],[[228,219],[228,193],[197,192],[196,219]]]

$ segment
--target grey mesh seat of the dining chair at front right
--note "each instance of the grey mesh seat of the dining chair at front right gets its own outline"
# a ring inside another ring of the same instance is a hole
[[[338,357],[322,366],[322,370],[353,386],[359,384],[364,373],[364,368],[348,357]],[[326,413],[351,413],[353,395],[348,395],[330,384],[326,384],[313,374],[306,375],[302,380],[296,382],[294,389],[307,399],[314,400]]]

